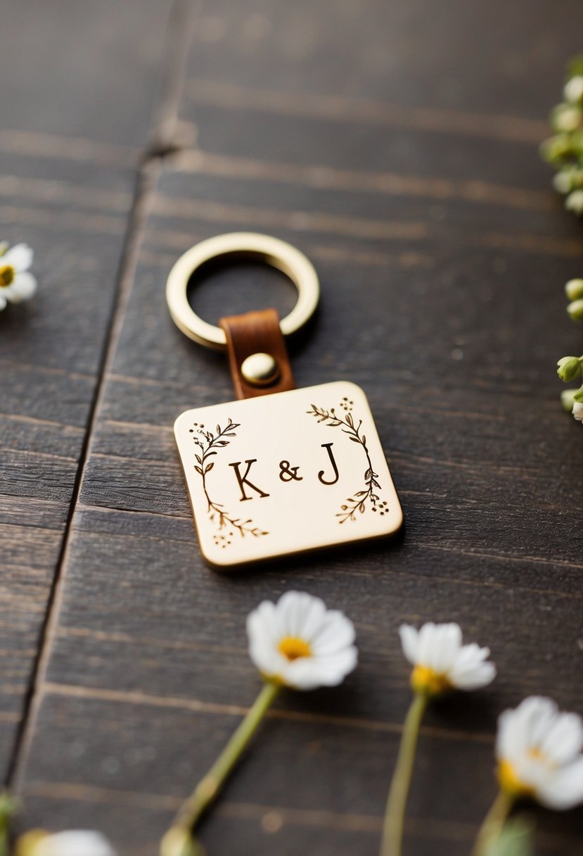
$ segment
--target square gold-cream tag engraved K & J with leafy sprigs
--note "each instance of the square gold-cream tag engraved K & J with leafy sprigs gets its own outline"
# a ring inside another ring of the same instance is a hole
[[[217,568],[381,538],[403,523],[354,383],[187,410],[174,433],[200,548]]]

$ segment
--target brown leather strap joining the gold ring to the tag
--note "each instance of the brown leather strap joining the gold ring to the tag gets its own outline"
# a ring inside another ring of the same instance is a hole
[[[246,312],[221,318],[221,328],[227,336],[227,351],[233,386],[237,398],[254,398],[256,395],[271,395],[296,389],[287,356],[286,342],[281,335],[280,316],[275,309],[262,312]],[[241,365],[251,354],[271,354],[276,360],[280,374],[268,386],[249,383],[241,373]]]

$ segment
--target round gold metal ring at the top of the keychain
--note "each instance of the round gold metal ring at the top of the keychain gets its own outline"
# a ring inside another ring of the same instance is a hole
[[[256,232],[230,232],[201,241],[175,263],[166,283],[166,300],[174,324],[185,336],[206,348],[224,350],[227,337],[224,330],[208,324],[193,311],[186,298],[186,288],[192,274],[204,262],[229,255],[261,259],[289,276],[297,288],[297,303],[281,320],[284,336],[295,333],[314,314],[320,297],[320,283],[314,265],[296,247],[270,235]]]

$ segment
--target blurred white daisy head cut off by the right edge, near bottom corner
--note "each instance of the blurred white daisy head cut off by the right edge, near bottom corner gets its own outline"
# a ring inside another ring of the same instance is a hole
[[[496,754],[500,787],[547,808],[583,802],[583,721],[560,713],[551,698],[530,696],[498,720]]]

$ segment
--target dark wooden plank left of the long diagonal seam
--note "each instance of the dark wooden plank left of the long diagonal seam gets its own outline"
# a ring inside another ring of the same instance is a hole
[[[2,238],[33,247],[39,282],[34,300],[0,313],[3,777],[84,452],[169,6],[3,9]]]

